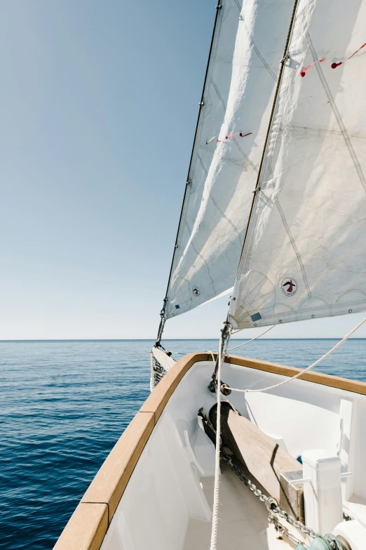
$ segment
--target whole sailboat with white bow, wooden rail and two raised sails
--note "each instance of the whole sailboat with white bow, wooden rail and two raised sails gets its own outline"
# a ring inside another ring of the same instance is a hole
[[[56,550],[365,550],[366,384],[229,348],[366,311],[365,21],[218,1],[151,395]],[[217,353],[173,360],[165,322],[226,292]]]

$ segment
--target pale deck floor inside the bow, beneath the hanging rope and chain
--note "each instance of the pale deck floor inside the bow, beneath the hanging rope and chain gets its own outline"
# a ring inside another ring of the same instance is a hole
[[[284,537],[277,539],[276,531],[269,527],[268,512],[262,502],[238,479],[228,464],[220,464],[218,549],[227,550],[290,550],[296,544]],[[201,480],[205,497],[213,502],[214,478]],[[210,548],[211,523],[189,520],[183,550]],[[285,540],[285,538],[287,540]],[[299,536],[301,539],[301,536]]]

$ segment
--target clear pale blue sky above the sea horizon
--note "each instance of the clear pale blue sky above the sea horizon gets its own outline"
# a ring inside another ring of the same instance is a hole
[[[0,339],[156,336],[215,4],[1,3]],[[165,336],[218,336],[226,303]],[[270,334],[343,336],[360,317]]]

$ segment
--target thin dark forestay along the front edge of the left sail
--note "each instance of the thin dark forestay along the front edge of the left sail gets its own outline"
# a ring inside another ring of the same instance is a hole
[[[163,334],[163,330],[164,330],[164,325],[165,325],[165,318],[164,318],[164,315],[165,315],[165,307],[166,307],[166,303],[168,301],[168,290],[169,290],[169,284],[170,284],[170,278],[172,276],[172,268],[173,268],[173,265],[174,265],[174,259],[175,259],[175,252],[177,251],[177,248],[178,248],[178,244],[177,244],[177,241],[178,241],[178,236],[179,236],[179,230],[180,230],[180,227],[181,227],[181,223],[182,223],[182,216],[183,216],[183,211],[184,211],[184,204],[186,202],[186,198],[187,198],[187,189],[189,187],[189,184],[190,184],[190,181],[189,181],[189,176],[190,176],[190,173],[191,173],[191,165],[192,165],[192,160],[193,160],[193,157],[194,157],[194,150],[195,150],[195,146],[196,146],[196,138],[197,138],[197,133],[198,133],[198,126],[199,126],[199,122],[200,122],[200,119],[201,119],[201,112],[202,112],[202,109],[203,109],[203,106],[205,105],[205,88],[206,88],[206,82],[207,82],[207,77],[208,77],[208,69],[210,67],[210,60],[211,60],[211,54],[212,54],[212,46],[214,44],[214,40],[215,40],[215,31],[216,31],[216,27],[217,27],[217,20],[219,18],[219,11],[221,10],[222,8],[222,0],[218,0],[217,1],[217,6],[216,6],[216,14],[215,14],[215,22],[214,22],[214,26],[213,26],[213,30],[212,30],[212,36],[211,36],[211,43],[210,43],[210,51],[208,53],[208,62],[207,62],[207,65],[206,65],[206,70],[205,70],[205,79],[203,81],[203,89],[202,89],[202,93],[201,93],[201,101],[199,103],[199,110],[198,110],[198,117],[197,117],[197,122],[196,122],[196,130],[194,132],[194,142],[193,142],[193,145],[192,145],[192,150],[191,150],[191,158],[189,159],[189,168],[188,168],[188,173],[187,173],[187,180],[186,180],[186,186],[184,188],[184,195],[183,195],[183,202],[182,202],[182,209],[180,211],[180,216],[179,216],[179,222],[178,222],[178,228],[177,228],[177,235],[175,237],[175,245],[174,245],[174,251],[173,251],[173,254],[172,254],[172,262],[170,264],[170,271],[169,271],[169,277],[168,277],[168,284],[167,284],[167,287],[166,287],[166,291],[165,291],[165,297],[163,299],[163,308],[161,308],[161,312],[160,312],[160,317],[161,317],[161,321],[160,321],[160,324],[159,324],[159,327],[158,327],[158,336],[156,337],[156,346],[159,346],[160,345],[160,341],[161,341],[161,336]]]

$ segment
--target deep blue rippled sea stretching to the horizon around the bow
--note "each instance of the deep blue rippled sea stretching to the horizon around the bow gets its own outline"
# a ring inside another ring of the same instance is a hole
[[[149,395],[153,343],[0,341],[1,549],[53,547]],[[233,353],[304,368],[334,343],[262,339]],[[215,340],[164,344],[177,353],[217,349]],[[366,381],[366,339],[348,340],[317,370]]]

